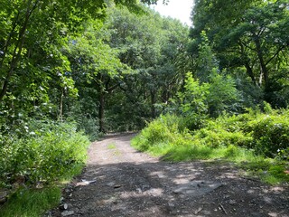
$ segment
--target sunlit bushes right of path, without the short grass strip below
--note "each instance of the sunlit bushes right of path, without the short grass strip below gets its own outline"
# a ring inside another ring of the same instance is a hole
[[[168,151],[168,147],[184,144],[211,148],[233,145],[253,149],[256,155],[288,159],[289,110],[274,110],[268,104],[265,104],[265,110],[266,113],[248,110],[242,115],[206,118],[200,129],[190,133],[188,117],[166,115],[151,122],[135,140],[139,140],[137,146],[144,151],[153,146],[165,146]]]

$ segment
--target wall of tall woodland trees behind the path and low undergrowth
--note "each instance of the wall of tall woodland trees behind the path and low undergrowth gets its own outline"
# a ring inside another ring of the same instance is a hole
[[[172,109],[189,71],[230,86],[210,96],[212,116],[263,101],[287,107],[285,1],[196,1],[190,30],[146,6],[82,4],[2,3],[3,134],[31,118],[75,121],[89,134],[140,129]]]

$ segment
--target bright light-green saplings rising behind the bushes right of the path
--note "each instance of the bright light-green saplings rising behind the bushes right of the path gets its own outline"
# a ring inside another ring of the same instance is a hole
[[[178,93],[179,109],[187,118],[190,129],[202,127],[208,117],[216,118],[224,112],[238,113],[242,108],[234,80],[219,74],[216,69],[210,71],[209,80],[209,83],[200,83],[189,72],[184,90]]]

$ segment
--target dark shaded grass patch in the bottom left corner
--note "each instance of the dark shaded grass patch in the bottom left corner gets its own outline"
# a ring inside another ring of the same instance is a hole
[[[1,208],[0,216],[39,217],[61,201],[61,188],[19,189]]]

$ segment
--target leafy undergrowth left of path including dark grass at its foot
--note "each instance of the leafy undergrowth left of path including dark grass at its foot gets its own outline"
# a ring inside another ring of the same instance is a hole
[[[86,162],[89,138],[74,124],[32,121],[27,135],[0,137],[0,191],[10,194],[0,216],[42,216]]]

